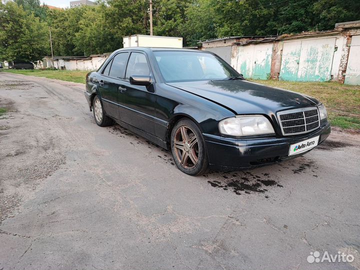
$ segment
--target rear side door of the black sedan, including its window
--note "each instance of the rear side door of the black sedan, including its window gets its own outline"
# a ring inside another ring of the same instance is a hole
[[[117,53],[103,68],[98,80],[98,88],[101,95],[102,104],[108,115],[116,119],[119,118],[116,104],[118,86],[117,84],[124,78],[128,52]]]

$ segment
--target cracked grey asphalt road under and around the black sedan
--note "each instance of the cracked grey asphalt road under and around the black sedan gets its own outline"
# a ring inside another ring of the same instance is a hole
[[[0,72],[0,269],[360,269],[359,135],[193,177],[97,126],[83,90]],[[308,263],[315,250],[354,260]]]

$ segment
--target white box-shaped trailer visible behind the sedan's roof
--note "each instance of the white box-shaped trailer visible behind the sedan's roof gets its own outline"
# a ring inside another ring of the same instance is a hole
[[[161,47],[182,48],[182,37],[134,34],[122,37],[124,48],[128,47]]]

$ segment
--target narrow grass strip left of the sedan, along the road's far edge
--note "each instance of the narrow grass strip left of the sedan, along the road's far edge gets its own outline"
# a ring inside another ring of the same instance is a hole
[[[15,74],[32,75],[38,77],[46,77],[53,79],[61,79],[66,81],[85,83],[85,76],[88,70],[52,70],[52,69],[3,69],[1,72],[9,72]]]

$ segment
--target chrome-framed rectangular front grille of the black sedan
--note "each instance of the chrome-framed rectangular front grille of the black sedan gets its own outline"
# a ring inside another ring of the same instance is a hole
[[[310,132],[320,126],[317,107],[280,111],[277,118],[285,136]]]

